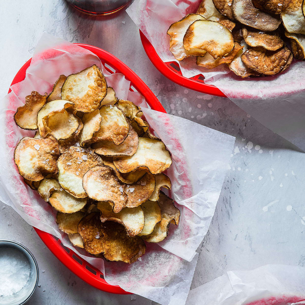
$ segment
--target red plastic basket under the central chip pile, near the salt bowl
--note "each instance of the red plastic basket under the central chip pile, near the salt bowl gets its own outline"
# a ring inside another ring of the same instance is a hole
[[[129,69],[124,63],[122,63],[119,59],[117,59],[112,54],[102,50],[100,48],[94,47],[92,45],[80,44],[76,45],[85,48],[96,56],[99,57],[102,64],[105,66],[106,70],[109,73],[121,73],[124,74],[125,78],[131,82],[130,91],[138,91],[141,93],[146,102],[153,110],[157,110],[160,112],[166,113],[165,109],[156,98],[156,96],[152,93],[152,91],[147,87],[147,85],[138,77],[135,72]],[[31,59],[29,59],[17,72],[14,77],[12,84],[16,84],[20,81],[23,81],[26,75],[26,70],[30,66]],[[11,90],[9,89],[9,92]],[[99,269],[96,269],[94,266],[89,264],[83,258],[78,256],[74,251],[65,247],[60,239],[55,238],[53,235],[41,231],[37,228],[34,228],[37,232],[38,236],[45,243],[45,245],[49,248],[49,250],[73,273],[75,273],[82,280],[90,284],[91,286],[98,288],[100,290],[116,293],[116,294],[130,294],[130,292],[126,292],[119,286],[109,285]]]

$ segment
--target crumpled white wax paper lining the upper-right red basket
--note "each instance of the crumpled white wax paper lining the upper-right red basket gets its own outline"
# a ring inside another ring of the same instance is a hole
[[[135,0],[126,10],[164,62],[176,61],[183,76],[202,74],[206,84],[218,87],[231,101],[260,123],[305,151],[305,63],[293,59],[284,72],[242,79],[226,65],[206,69],[196,57],[177,61],[169,51],[170,25],[196,13],[202,0]]]

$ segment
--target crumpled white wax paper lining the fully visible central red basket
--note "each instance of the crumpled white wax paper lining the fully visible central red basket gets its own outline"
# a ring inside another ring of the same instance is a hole
[[[181,211],[180,223],[177,228],[171,225],[167,241],[147,244],[145,255],[131,265],[106,262],[74,248],[55,222],[56,211],[23,182],[13,160],[18,141],[34,135],[34,131],[16,126],[13,119],[25,96],[32,90],[41,94],[50,92],[60,74],[77,73],[93,64],[102,68],[108,86],[114,88],[118,98],[143,105],[147,121],[173,159],[167,174],[173,185],[172,196]],[[44,34],[25,80],[13,85],[12,92],[1,103],[0,200],[12,206],[30,225],[55,235],[66,247],[99,268],[108,283],[161,304],[183,305],[196,267],[196,248],[213,217],[235,138],[183,118],[145,109],[149,101],[129,88],[130,82],[124,75],[109,74],[90,51]]]

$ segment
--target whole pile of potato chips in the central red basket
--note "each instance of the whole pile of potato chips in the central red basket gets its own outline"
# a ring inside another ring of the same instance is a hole
[[[14,116],[19,127],[37,130],[14,152],[25,183],[58,211],[74,246],[107,260],[135,262],[144,241],[162,241],[179,222],[160,190],[171,187],[162,173],[170,153],[142,115],[93,65],[61,75],[49,95],[33,91]]]

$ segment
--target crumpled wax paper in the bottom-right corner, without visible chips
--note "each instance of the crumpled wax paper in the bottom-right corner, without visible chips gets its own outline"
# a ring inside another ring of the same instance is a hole
[[[265,265],[228,271],[190,290],[186,305],[304,305],[305,268]]]

